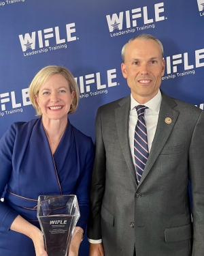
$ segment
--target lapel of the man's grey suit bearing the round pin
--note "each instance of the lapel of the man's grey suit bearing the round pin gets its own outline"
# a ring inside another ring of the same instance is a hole
[[[156,132],[154,135],[154,140],[152,142],[150,155],[148,157],[148,161],[146,163],[146,167],[143,171],[138,187],[141,186],[143,180],[146,179],[148,173],[154,165],[154,162],[158,158],[158,155],[160,154],[161,150],[163,150],[163,147],[165,146],[165,143],[167,142],[167,139],[169,138],[169,135],[171,134],[173,126],[175,125],[175,122],[179,115],[179,112],[173,109],[173,107],[177,104],[173,101],[173,99],[169,98],[166,94],[164,94],[163,91],[161,92],[163,99],[160,104],[158,124],[156,126]],[[167,124],[165,122],[165,119],[167,117],[171,118],[171,124]]]

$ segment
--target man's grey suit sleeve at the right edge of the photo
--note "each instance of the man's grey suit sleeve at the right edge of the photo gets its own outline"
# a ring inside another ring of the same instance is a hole
[[[204,255],[204,111],[201,112],[189,150],[189,175],[192,186],[192,256]]]

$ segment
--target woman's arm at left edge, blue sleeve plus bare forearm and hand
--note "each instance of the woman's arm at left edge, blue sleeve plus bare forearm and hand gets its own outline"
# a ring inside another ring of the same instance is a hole
[[[16,124],[12,124],[10,128],[5,132],[0,140],[0,194],[3,194],[3,190],[7,183],[10,181],[12,175],[12,156],[14,152],[14,143],[16,140]],[[13,230],[23,233],[29,236],[33,240],[36,256],[47,256],[44,250],[44,239],[41,231],[18,215],[18,212],[7,206],[0,201],[0,226],[6,230]]]

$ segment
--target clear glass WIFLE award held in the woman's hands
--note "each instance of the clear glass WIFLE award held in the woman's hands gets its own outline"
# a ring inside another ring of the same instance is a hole
[[[75,195],[39,195],[37,218],[48,256],[67,256],[80,210]]]

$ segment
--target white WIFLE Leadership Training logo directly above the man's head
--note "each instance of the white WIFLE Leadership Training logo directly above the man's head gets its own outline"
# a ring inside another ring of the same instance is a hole
[[[148,6],[120,12],[119,14],[107,15],[106,19],[110,35],[116,36],[124,33],[134,33],[143,29],[154,29],[154,22],[165,20],[164,11],[164,3],[162,2],[154,4],[154,17],[151,18],[148,14]],[[140,27],[138,23],[141,24]]]

